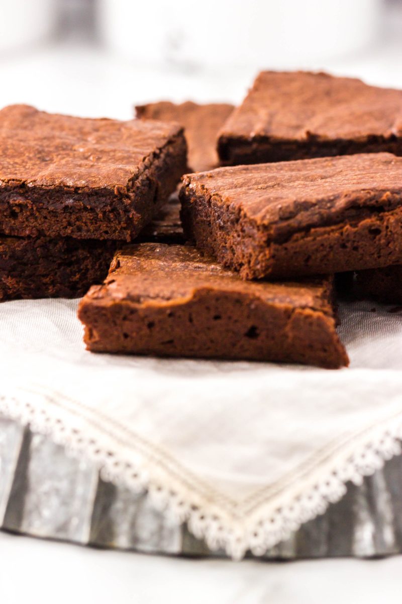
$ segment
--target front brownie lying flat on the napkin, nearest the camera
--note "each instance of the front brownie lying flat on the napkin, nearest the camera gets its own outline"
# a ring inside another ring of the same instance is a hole
[[[117,252],[78,316],[94,352],[348,364],[330,278],[243,281],[191,246],[143,243]]]

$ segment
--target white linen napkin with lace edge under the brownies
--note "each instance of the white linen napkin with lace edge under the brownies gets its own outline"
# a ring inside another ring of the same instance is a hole
[[[341,306],[350,368],[89,353],[77,300],[0,305],[0,412],[233,557],[324,512],[402,437],[402,312]],[[395,310],[395,309],[391,309]]]

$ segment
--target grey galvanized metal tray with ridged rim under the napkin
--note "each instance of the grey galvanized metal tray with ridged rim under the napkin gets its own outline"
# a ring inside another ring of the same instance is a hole
[[[106,483],[98,469],[69,457],[48,437],[0,417],[0,527],[83,545],[187,556],[210,551],[185,524],[149,504],[146,493]],[[402,552],[402,456],[348,485],[337,504],[265,559],[388,556]],[[251,556],[251,554],[250,554]]]

